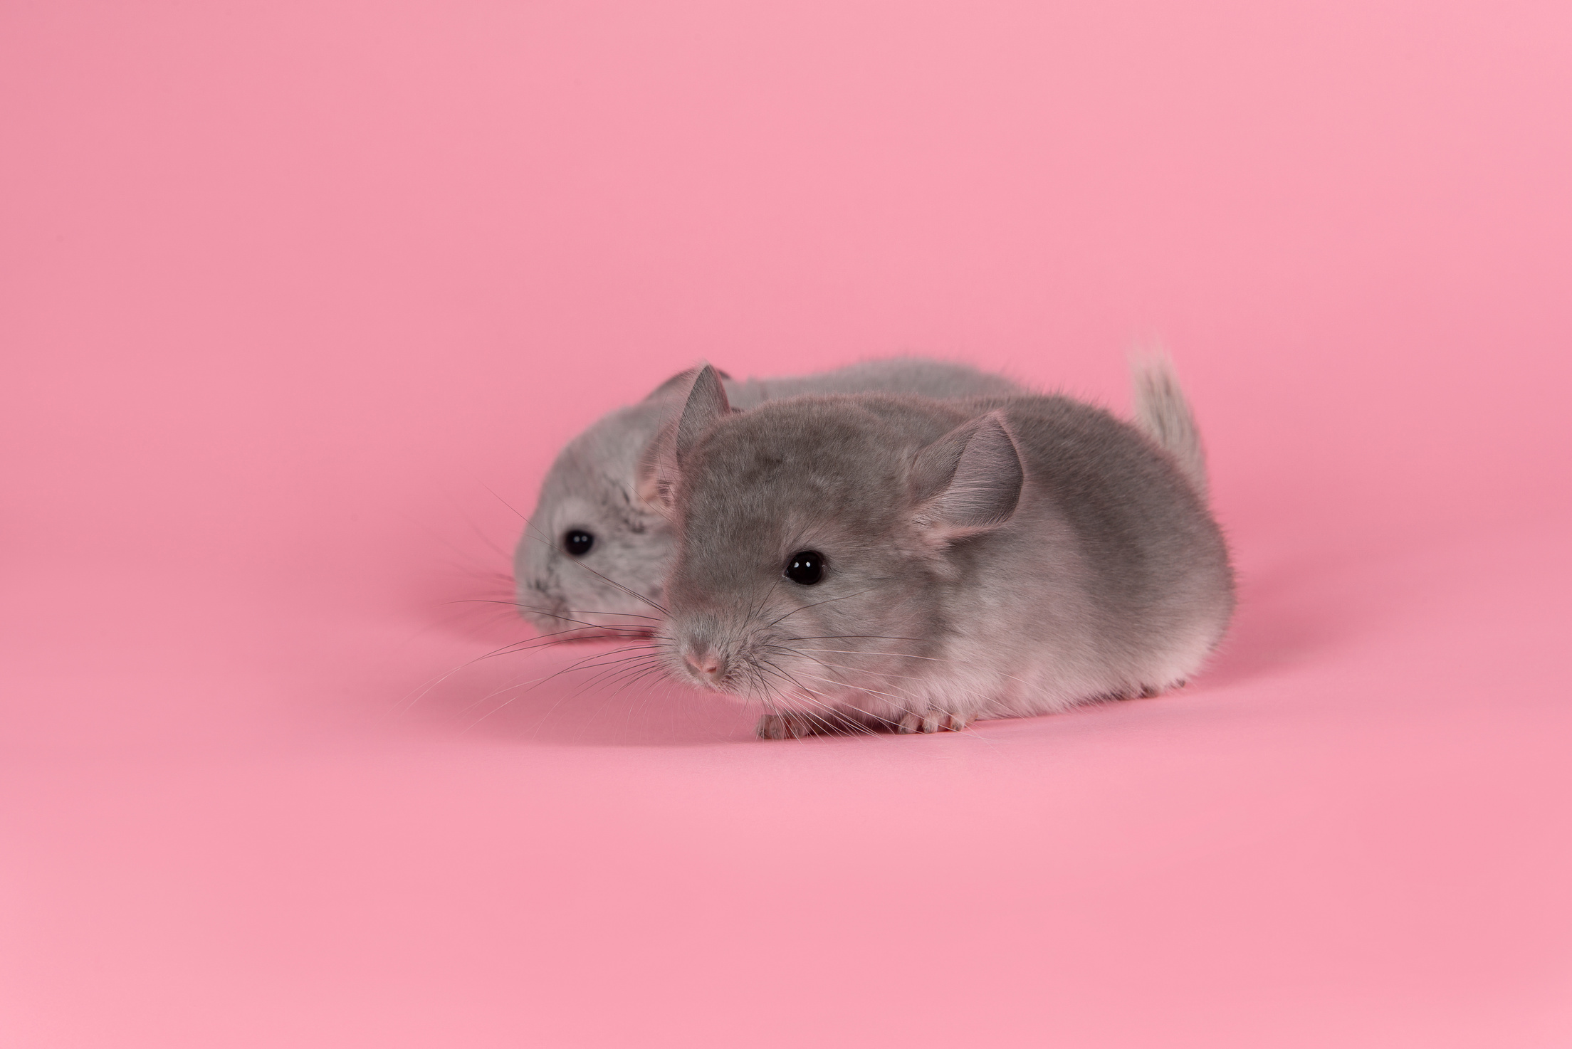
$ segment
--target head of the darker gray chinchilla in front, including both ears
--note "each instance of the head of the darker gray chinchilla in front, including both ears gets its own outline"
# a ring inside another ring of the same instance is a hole
[[[1023,485],[997,415],[898,396],[734,415],[709,369],[657,449],[652,498],[676,532],[668,672],[810,716],[907,705],[954,630],[945,592],[967,583],[965,548]]]

